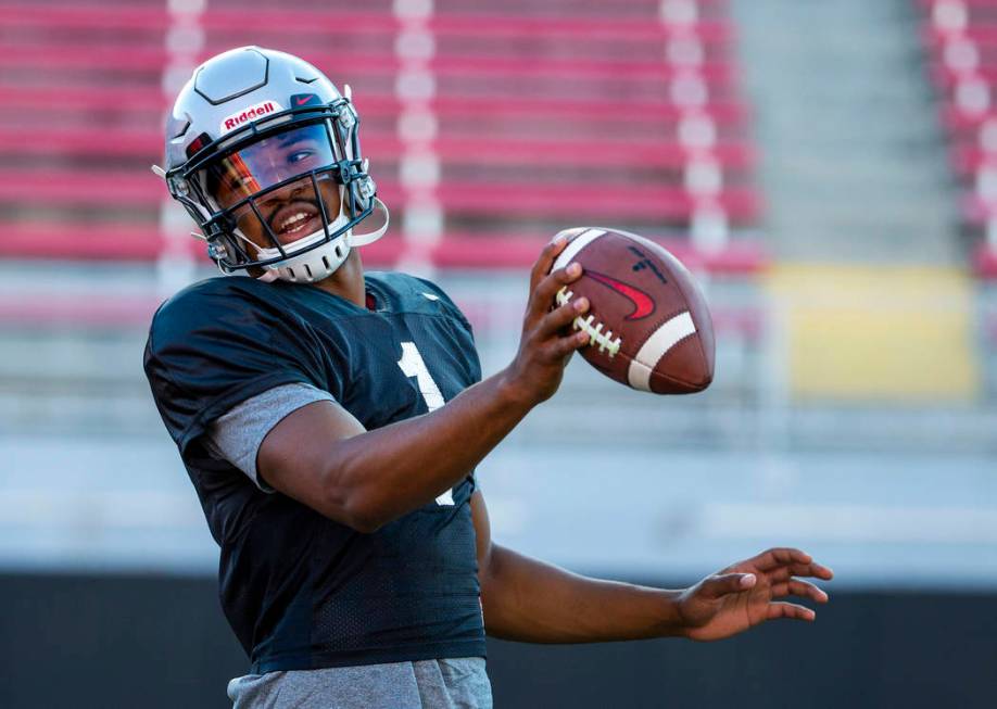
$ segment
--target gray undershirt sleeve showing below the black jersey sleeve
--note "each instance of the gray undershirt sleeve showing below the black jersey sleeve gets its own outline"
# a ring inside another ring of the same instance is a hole
[[[336,401],[312,384],[282,384],[248,398],[207,427],[205,447],[216,458],[228,460],[264,492],[274,492],[256,472],[256,453],[266,434],[288,414],[320,401]]]

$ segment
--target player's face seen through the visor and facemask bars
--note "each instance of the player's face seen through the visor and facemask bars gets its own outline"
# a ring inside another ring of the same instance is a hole
[[[306,126],[261,140],[219,161],[207,182],[214,188],[218,206],[229,208],[261,190],[333,163],[325,126]],[[254,244],[269,249],[275,244],[267,227],[281,244],[288,244],[323,228],[323,206],[326,218],[336,219],[340,190],[328,173],[319,173],[314,182],[305,176],[253,202],[255,210],[250,203],[235,210],[237,226]]]

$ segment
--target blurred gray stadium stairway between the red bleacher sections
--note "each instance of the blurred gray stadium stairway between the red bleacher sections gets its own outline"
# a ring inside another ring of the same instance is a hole
[[[773,256],[961,263],[909,0],[731,7],[757,106]]]

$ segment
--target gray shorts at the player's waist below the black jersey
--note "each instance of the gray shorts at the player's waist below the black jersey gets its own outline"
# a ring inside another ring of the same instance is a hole
[[[484,658],[417,660],[247,674],[228,683],[235,709],[491,709]]]

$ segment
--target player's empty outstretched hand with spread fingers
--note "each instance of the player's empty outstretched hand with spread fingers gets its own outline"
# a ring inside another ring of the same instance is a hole
[[[826,603],[828,594],[797,577],[832,579],[831,569],[799,549],[778,548],[703,579],[679,596],[685,635],[696,641],[730,637],[773,618],[812,621],[810,608],[775,600],[785,596]]]

